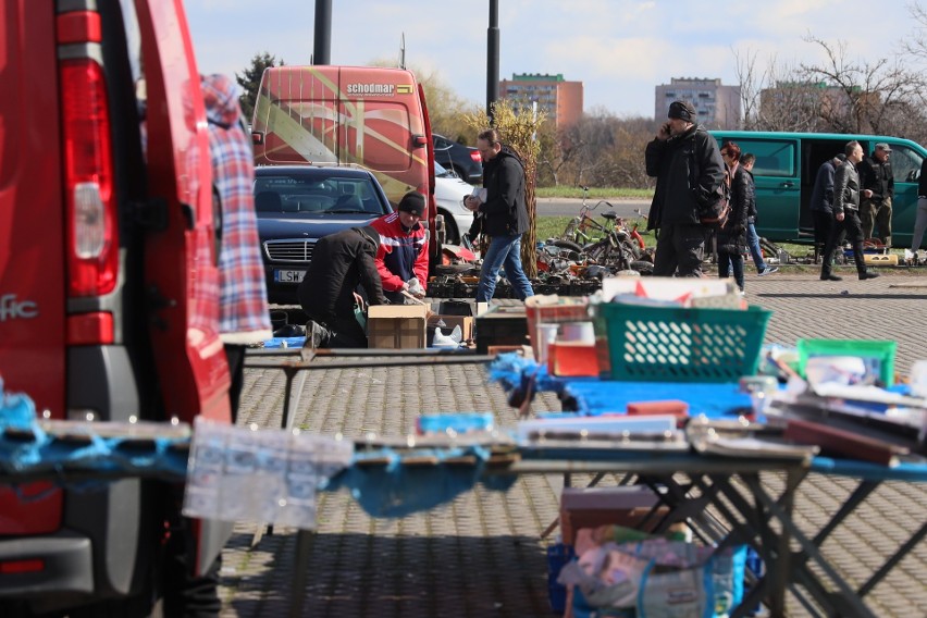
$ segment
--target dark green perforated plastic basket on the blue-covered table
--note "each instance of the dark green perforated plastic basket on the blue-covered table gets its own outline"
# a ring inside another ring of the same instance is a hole
[[[771,311],[642,307],[604,302],[596,326],[608,337],[611,379],[737,382],[754,375]]]

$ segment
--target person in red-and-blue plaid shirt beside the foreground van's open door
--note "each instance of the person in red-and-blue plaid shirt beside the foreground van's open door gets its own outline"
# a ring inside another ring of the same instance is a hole
[[[255,159],[242,124],[238,88],[224,75],[201,76],[209,125],[213,199],[222,208],[220,321],[232,386],[233,422],[244,380],[245,348],[273,336],[255,215]]]

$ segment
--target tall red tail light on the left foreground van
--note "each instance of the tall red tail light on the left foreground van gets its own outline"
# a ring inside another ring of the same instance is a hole
[[[119,268],[110,110],[103,72],[90,59],[60,65],[71,296],[113,291]]]

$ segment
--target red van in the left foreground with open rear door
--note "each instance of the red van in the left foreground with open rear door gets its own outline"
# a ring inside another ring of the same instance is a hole
[[[0,35],[5,390],[52,419],[227,422],[209,144],[181,0],[7,0]],[[176,493],[138,479],[0,486],[0,616],[149,615],[165,531],[183,521]],[[190,560],[202,570],[226,536],[195,526],[212,539]]]

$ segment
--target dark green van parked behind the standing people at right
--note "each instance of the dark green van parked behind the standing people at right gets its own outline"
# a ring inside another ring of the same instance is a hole
[[[917,211],[917,181],[920,163],[927,157],[923,146],[899,137],[842,135],[832,133],[765,133],[712,131],[719,145],[736,141],[741,152],[756,156],[756,232],[774,242],[811,243],[814,223],[809,210],[812,189],[821,163],[843,152],[856,140],[872,156],[876,144],[891,147],[894,173],[892,201],[892,245],[907,247]]]

